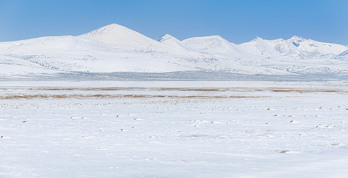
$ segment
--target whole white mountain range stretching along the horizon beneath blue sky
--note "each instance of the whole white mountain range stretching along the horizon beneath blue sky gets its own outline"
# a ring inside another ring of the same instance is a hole
[[[80,72],[219,71],[348,74],[348,46],[301,37],[236,45],[220,36],[148,38],[111,24],[80,36],[0,43],[0,76]]]

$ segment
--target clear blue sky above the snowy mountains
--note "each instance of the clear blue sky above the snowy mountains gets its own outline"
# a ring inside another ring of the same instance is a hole
[[[220,35],[241,44],[296,35],[348,45],[348,0],[0,0],[0,42],[111,23],[150,38]]]

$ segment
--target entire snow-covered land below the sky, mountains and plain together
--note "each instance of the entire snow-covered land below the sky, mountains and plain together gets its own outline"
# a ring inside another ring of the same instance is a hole
[[[1,42],[0,178],[345,178],[347,61],[117,24]]]

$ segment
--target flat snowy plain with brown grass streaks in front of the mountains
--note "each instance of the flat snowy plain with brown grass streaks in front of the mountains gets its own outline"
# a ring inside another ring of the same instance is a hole
[[[1,82],[0,177],[344,178],[347,93],[345,82]]]

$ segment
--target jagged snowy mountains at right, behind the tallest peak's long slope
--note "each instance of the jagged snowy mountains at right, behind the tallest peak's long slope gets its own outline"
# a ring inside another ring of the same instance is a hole
[[[321,43],[297,36],[288,40],[256,38],[240,45],[229,43],[219,36],[190,38],[182,42],[198,51],[247,66],[265,66],[304,73],[348,72],[347,64],[335,59],[342,51],[347,50],[347,46]]]

